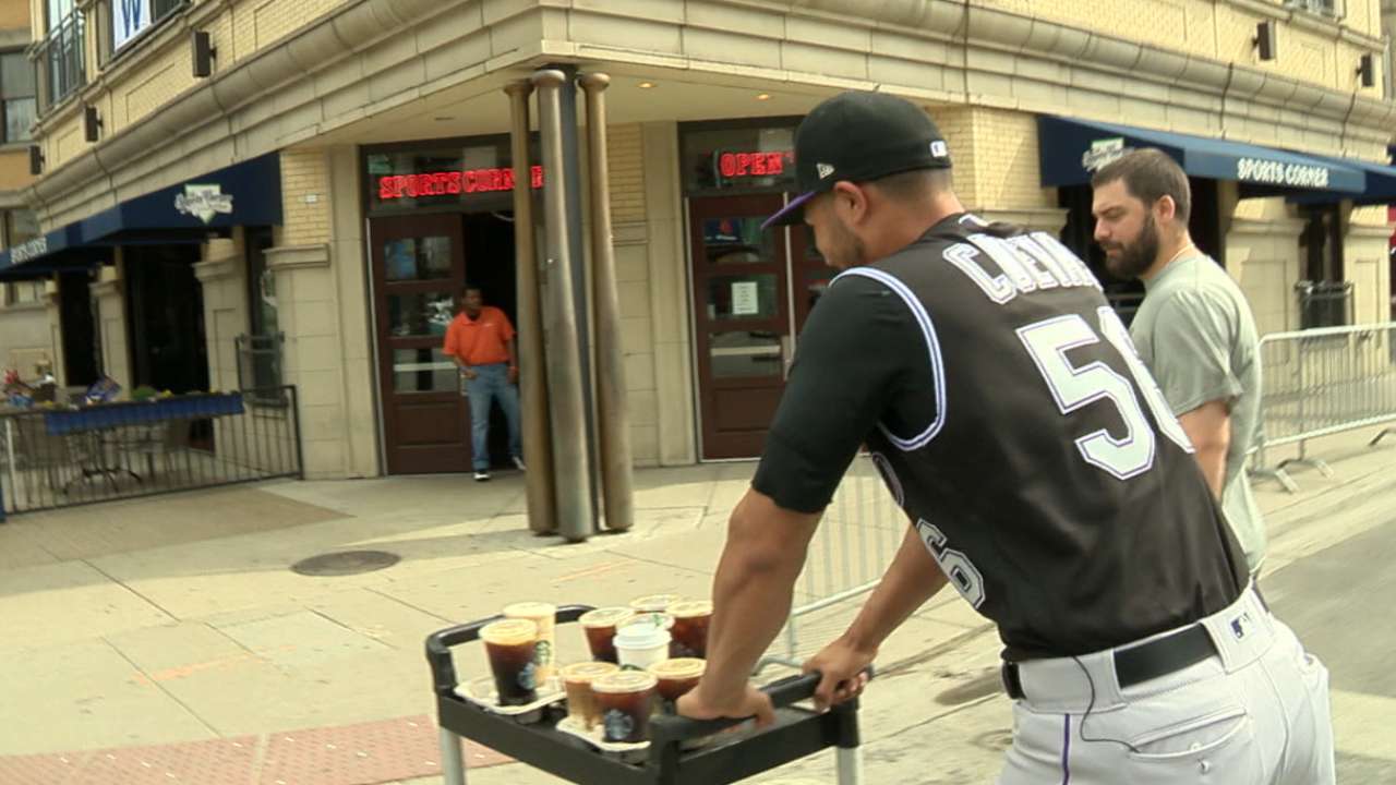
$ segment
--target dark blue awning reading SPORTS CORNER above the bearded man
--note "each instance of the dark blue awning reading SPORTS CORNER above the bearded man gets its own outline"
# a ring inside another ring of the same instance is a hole
[[[1043,115],[1037,117],[1043,186],[1081,186],[1125,148],[1156,147],[1194,177],[1235,180],[1241,196],[1360,194],[1367,175],[1346,161],[1171,131]],[[1339,197],[1343,198],[1343,197]]]

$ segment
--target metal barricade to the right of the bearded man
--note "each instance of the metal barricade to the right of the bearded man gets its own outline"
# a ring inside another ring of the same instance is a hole
[[[1297,490],[1284,471],[1332,469],[1305,453],[1309,439],[1396,422],[1396,323],[1273,332],[1261,339],[1262,436],[1251,474]],[[1371,444],[1396,427],[1385,427]],[[1298,457],[1268,467],[1265,450],[1298,446]]]

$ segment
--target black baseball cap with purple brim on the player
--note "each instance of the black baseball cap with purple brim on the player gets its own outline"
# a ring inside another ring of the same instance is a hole
[[[885,92],[843,92],[814,108],[794,133],[800,196],[762,229],[804,219],[804,204],[839,180],[867,183],[913,169],[949,169],[951,152],[919,106]]]

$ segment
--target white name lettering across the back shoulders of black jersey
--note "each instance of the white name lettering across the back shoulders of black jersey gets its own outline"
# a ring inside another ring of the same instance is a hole
[[[998,305],[1047,289],[1100,289],[1100,281],[1086,263],[1047,232],[1007,239],[970,235],[966,242],[945,249],[944,257]]]

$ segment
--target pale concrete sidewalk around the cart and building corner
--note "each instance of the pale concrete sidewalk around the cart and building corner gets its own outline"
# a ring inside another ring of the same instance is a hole
[[[1301,471],[1298,494],[1258,485],[1268,571],[1388,513],[1396,446],[1367,448],[1362,436],[1311,447],[1333,479]],[[438,781],[430,631],[525,598],[706,596],[752,469],[639,472],[635,529],[572,546],[526,531],[517,476],[290,482],[14,517],[0,525],[0,785]],[[402,560],[345,577],[289,570],[357,549]],[[804,626],[805,647],[856,608]],[[560,648],[579,658],[582,641],[564,636]],[[926,782],[912,751],[933,726],[935,781],[990,779],[1009,719],[997,656],[991,627],[948,592],[899,630],[866,701],[868,779]],[[484,669],[477,651],[458,662]],[[1396,760],[1396,749],[1378,754]],[[482,767],[472,784],[556,782],[470,756]],[[832,756],[761,779],[829,782]]]

